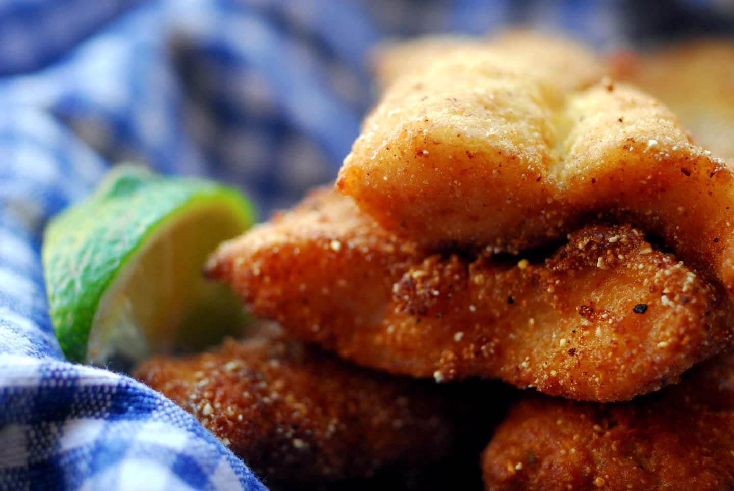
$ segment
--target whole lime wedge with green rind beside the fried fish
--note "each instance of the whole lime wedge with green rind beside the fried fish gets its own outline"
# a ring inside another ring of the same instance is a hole
[[[115,167],[46,228],[46,291],[66,357],[124,369],[239,333],[248,323],[241,303],[202,270],[207,255],[253,219],[234,189]]]

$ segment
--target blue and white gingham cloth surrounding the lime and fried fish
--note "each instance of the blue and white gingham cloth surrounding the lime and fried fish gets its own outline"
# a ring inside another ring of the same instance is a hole
[[[624,46],[630,32],[659,33],[621,20],[649,11],[644,1],[0,0],[0,490],[265,489],[159,393],[63,359],[43,228],[110,164],[213,176],[269,211],[335,175],[371,103],[368,52],[383,37],[526,21]],[[667,23],[671,12],[718,28],[732,15],[719,1],[666,2]]]

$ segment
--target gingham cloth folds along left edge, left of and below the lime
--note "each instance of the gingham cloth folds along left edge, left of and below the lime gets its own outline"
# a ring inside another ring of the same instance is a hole
[[[161,394],[63,361],[48,319],[40,233],[103,161],[46,112],[0,114],[0,490],[264,490]]]

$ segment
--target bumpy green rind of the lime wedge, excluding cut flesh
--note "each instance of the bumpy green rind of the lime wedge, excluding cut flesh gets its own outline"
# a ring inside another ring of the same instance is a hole
[[[115,275],[167,220],[199,206],[225,206],[242,230],[255,210],[235,189],[118,165],[87,200],[51,220],[43,241],[51,321],[68,360],[82,362],[92,321]]]

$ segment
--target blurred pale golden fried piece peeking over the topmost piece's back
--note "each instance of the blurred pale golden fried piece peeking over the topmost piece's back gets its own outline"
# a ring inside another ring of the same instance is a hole
[[[592,51],[570,37],[561,34],[513,29],[487,37],[466,35],[431,35],[404,43],[392,43],[378,48],[374,70],[382,87],[404,74],[423,70],[436,59],[452,54],[473,56],[478,51],[509,52],[542,70],[567,90],[587,87],[599,81],[608,67]]]

